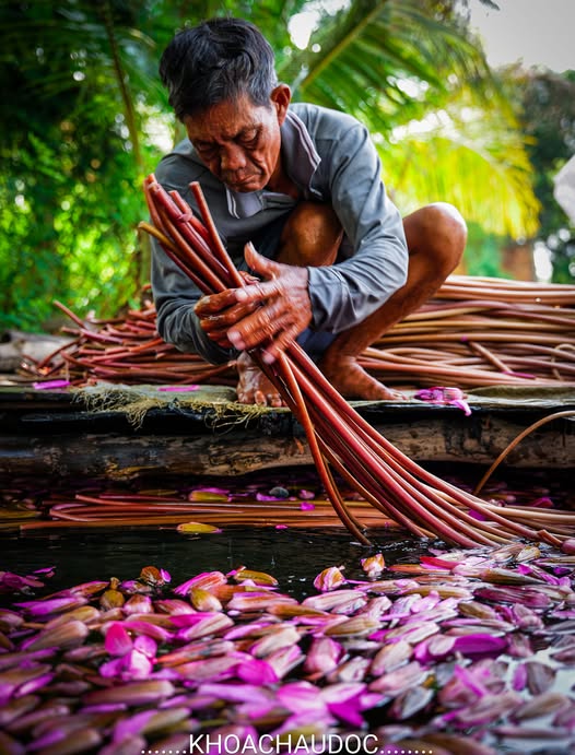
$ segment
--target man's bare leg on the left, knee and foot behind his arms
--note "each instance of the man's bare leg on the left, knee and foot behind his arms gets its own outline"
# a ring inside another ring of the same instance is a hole
[[[292,212],[282,235],[277,255],[278,262],[298,267],[332,264],[336,261],[343,232],[330,204],[302,202]],[[237,358],[237,400],[283,406],[274,386],[256,366],[247,352]]]

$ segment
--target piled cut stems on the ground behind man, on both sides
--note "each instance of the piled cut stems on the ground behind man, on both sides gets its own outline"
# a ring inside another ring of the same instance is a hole
[[[155,309],[74,323],[70,342],[40,362],[26,357],[35,378],[122,384],[234,386],[234,363],[210,365],[183,354],[157,334]],[[362,366],[404,389],[454,386],[575,387],[575,285],[451,275],[437,296],[366,349]]]

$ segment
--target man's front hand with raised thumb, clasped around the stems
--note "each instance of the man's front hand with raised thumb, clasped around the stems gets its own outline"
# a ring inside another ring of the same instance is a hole
[[[312,322],[307,269],[269,260],[250,244],[245,255],[249,267],[267,280],[231,292],[236,306],[249,314],[236,319],[227,340],[239,351],[263,347],[262,358],[270,364]]]

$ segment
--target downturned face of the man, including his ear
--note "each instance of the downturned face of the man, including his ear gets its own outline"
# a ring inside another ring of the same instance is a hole
[[[184,125],[199,157],[216,178],[233,191],[257,191],[270,182],[273,186],[281,174],[280,126],[289,102],[289,89],[280,85],[268,107],[254,105],[244,94],[236,102],[187,116]]]

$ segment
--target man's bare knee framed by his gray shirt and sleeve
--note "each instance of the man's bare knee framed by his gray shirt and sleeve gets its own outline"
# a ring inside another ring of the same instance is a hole
[[[288,219],[278,260],[288,264],[333,264],[343,231],[330,204],[301,202]]]

